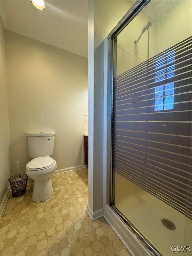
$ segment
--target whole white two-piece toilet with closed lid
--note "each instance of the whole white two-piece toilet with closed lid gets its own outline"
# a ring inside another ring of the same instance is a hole
[[[55,132],[27,133],[29,155],[33,159],[26,165],[26,174],[34,180],[32,199],[41,202],[53,194],[51,175],[57,168],[53,155]]]

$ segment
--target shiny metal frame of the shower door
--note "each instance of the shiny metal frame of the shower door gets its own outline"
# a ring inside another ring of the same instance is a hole
[[[135,4],[131,7],[131,9],[125,14],[125,16],[121,19],[121,21],[115,26],[115,28],[110,32],[108,38],[106,39],[106,45],[108,49],[107,56],[107,65],[108,72],[104,74],[104,80],[108,81],[107,88],[107,99],[106,106],[104,106],[107,114],[104,112],[104,120],[107,117],[106,124],[104,123],[104,136],[106,135],[106,143],[104,143],[104,159],[106,156],[106,187],[105,187],[105,199],[106,204],[111,208],[111,210],[126,224],[131,233],[136,236],[139,242],[147,249],[147,251],[153,256],[161,256],[161,254],[153,247],[153,245],[129,222],[125,216],[114,206],[113,204],[113,171],[112,171],[112,123],[113,123],[113,76],[116,70],[116,65],[114,65],[115,55],[116,55],[116,38],[117,35],[129,24],[131,20],[133,20],[136,15],[150,2],[150,0],[137,0]],[[105,81],[104,81],[105,83]],[[105,92],[104,92],[105,94]],[[106,132],[105,132],[106,126]],[[106,152],[105,152],[106,149]],[[104,168],[105,169],[105,168]],[[104,209],[105,210],[105,209]]]

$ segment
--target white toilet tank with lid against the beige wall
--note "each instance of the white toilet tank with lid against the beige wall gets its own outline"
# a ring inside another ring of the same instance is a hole
[[[55,132],[27,133],[30,157],[53,155]]]

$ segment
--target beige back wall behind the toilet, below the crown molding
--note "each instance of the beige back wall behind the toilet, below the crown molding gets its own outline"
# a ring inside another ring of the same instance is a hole
[[[88,112],[88,59],[6,31],[10,166],[30,160],[26,132],[55,131],[57,169],[82,165],[82,113]]]

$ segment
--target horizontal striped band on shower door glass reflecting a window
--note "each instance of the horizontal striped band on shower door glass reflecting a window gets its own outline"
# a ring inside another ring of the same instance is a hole
[[[192,38],[113,79],[112,170],[191,218]]]

